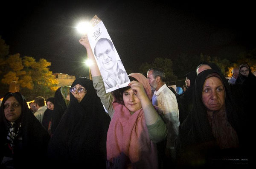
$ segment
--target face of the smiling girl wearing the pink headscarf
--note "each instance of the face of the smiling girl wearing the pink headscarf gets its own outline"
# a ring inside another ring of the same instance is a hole
[[[125,107],[127,107],[130,112],[134,113],[142,108],[140,100],[131,88],[124,91],[123,100]]]

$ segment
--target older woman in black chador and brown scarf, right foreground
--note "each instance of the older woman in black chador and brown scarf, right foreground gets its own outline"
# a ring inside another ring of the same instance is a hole
[[[175,145],[179,166],[232,165],[225,159],[248,159],[243,107],[237,105],[222,73],[204,70],[198,74],[193,107],[179,127]]]

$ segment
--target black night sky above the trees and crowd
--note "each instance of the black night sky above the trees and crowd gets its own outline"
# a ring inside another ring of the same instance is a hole
[[[1,5],[2,6],[2,5]],[[231,61],[256,48],[255,6],[245,1],[170,3],[150,0],[22,1],[1,9],[0,36],[9,54],[44,58],[53,73],[84,76],[86,56],[74,28],[96,14],[126,69],[139,71],[156,57],[210,55]]]

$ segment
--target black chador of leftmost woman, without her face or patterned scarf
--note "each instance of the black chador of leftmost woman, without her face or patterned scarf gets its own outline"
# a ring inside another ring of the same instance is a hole
[[[14,165],[21,168],[25,166],[34,167],[35,164],[38,165],[46,158],[49,135],[29,110],[25,98],[19,92],[6,93],[3,98],[0,115],[0,161],[2,161],[3,156],[6,156],[6,153],[8,154],[11,151],[7,146],[6,139],[10,122],[6,120],[3,108],[4,103],[11,96],[14,96],[22,107],[20,118],[15,121],[18,124],[17,126],[20,126],[20,131],[14,140]]]

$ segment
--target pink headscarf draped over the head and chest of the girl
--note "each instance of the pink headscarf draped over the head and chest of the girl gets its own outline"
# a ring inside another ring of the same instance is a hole
[[[131,73],[140,82],[148,98],[151,99],[151,87],[146,77],[141,73]],[[129,168],[158,168],[157,149],[148,135],[143,109],[131,115],[125,105],[113,102],[115,110],[107,135],[107,159],[112,165],[125,163],[122,155],[130,160]],[[122,155],[121,155],[122,153]],[[117,162],[119,161],[119,162]],[[108,166],[111,168],[111,166]]]

